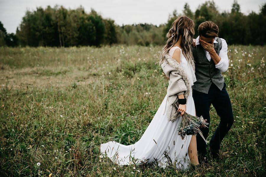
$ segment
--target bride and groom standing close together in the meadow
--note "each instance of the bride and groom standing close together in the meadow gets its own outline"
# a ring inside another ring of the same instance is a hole
[[[228,69],[226,41],[218,37],[218,26],[203,22],[199,36],[193,39],[194,22],[189,17],[178,17],[166,37],[159,64],[169,79],[167,93],[140,140],[131,145],[109,141],[100,145],[100,153],[119,165],[156,162],[160,167],[174,166],[186,170],[206,164],[207,145],[199,135],[178,135],[184,113],[202,116],[210,123],[209,109],[215,108],[220,123],[208,151],[212,158],[225,158],[220,143],[230,130],[234,119],[231,101],[226,91],[222,72]],[[174,106],[179,103],[179,107]],[[205,139],[209,125],[201,128]]]

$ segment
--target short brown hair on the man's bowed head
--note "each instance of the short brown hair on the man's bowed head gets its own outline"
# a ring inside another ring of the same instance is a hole
[[[204,37],[218,37],[219,28],[212,21],[202,22],[198,28],[199,35]]]

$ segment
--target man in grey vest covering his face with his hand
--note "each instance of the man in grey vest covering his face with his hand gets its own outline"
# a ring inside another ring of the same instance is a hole
[[[193,99],[198,117],[202,116],[210,123],[210,105],[213,104],[220,123],[210,140],[210,154],[213,158],[226,156],[220,154],[220,143],[233,125],[233,111],[222,72],[228,69],[227,43],[218,37],[218,26],[211,22],[203,22],[198,27],[199,36],[193,47],[195,60],[195,75],[197,81],[192,86]],[[207,139],[209,126],[202,128],[202,134]],[[206,143],[197,135],[197,149],[200,163],[208,163]]]

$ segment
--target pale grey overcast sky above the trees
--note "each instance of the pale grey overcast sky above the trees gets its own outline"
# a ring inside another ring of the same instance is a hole
[[[190,9],[195,12],[205,0],[0,0],[0,21],[8,33],[15,33],[27,9],[33,11],[36,10],[37,6],[46,8],[48,5],[53,7],[58,4],[67,9],[76,9],[82,5],[87,13],[93,8],[102,17],[111,18],[119,25],[134,23],[159,25],[167,22],[168,15],[174,9],[181,13],[185,2],[188,2]],[[252,11],[258,13],[259,6],[265,2],[266,0],[238,0],[241,12],[244,14]],[[215,0],[215,4],[220,12],[230,11],[233,0]]]

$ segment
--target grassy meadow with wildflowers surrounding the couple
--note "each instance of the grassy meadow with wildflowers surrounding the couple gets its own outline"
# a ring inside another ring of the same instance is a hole
[[[133,144],[153,119],[168,86],[161,48],[1,47],[0,175],[264,176],[265,46],[228,47],[235,122],[221,150],[231,157],[210,159],[214,169],[119,167],[99,157],[101,143]],[[210,114],[208,141],[219,123],[213,106]]]

